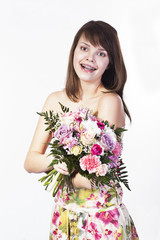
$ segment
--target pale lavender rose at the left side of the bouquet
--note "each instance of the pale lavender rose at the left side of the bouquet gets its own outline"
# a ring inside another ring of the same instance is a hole
[[[59,141],[63,141],[64,138],[69,138],[71,136],[71,129],[66,124],[61,125],[54,133],[54,137],[57,138]]]

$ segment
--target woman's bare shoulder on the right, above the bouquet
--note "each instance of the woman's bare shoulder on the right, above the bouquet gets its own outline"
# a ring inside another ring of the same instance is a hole
[[[98,102],[98,117],[117,127],[125,125],[123,102],[116,93],[103,94]]]

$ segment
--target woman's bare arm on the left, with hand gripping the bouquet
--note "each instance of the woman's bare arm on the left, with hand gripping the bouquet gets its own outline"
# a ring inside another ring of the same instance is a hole
[[[56,103],[58,102],[57,94],[58,93],[52,93],[48,96],[43,106],[42,112],[56,109]],[[49,131],[45,131],[46,125],[44,124],[44,122],[44,118],[39,117],[39,121],[31,142],[31,146],[25,159],[24,168],[29,173],[41,173],[50,170],[48,168],[48,165],[53,160],[52,156],[48,157],[47,154],[45,154],[47,149],[47,144],[45,143],[51,141],[51,135],[49,135]],[[65,165],[59,166],[57,164],[55,168],[57,171],[60,170],[60,172],[63,174],[68,174],[67,172],[65,172],[67,171]]]

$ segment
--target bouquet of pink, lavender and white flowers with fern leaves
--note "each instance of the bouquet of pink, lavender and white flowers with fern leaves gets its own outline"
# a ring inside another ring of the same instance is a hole
[[[100,121],[91,110],[79,107],[71,112],[59,103],[62,113],[54,111],[38,113],[48,125],[45,129],[52,134],[47,143],[53,161],[48,167],[65,162],[71,175],[73,171],[91,181],[91,186],[110,185],[112,181],[122,182],[129,190],[127,171],[121,159],[121,133],[124,128],[109,126],[108,121]],[[71,187],[70,176],[57,172],[54,168],[39,179],[47,190],[53,189],[53,196],[60,187]],[[73,187],[73,186],[72,186]]]

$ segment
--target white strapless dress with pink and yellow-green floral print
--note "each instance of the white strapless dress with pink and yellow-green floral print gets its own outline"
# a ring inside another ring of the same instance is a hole
[[[133,220],[122,203],[117,183],[92,190],[58,191],[50,240],[139,240]]]

